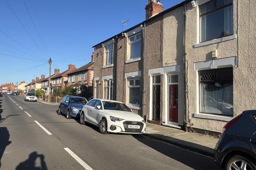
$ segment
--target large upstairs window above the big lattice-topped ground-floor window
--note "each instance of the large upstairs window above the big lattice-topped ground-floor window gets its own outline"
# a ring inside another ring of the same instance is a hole
[[[199,6],[201,38],[209,41],[233,34],[233,0],[212,0]]]

